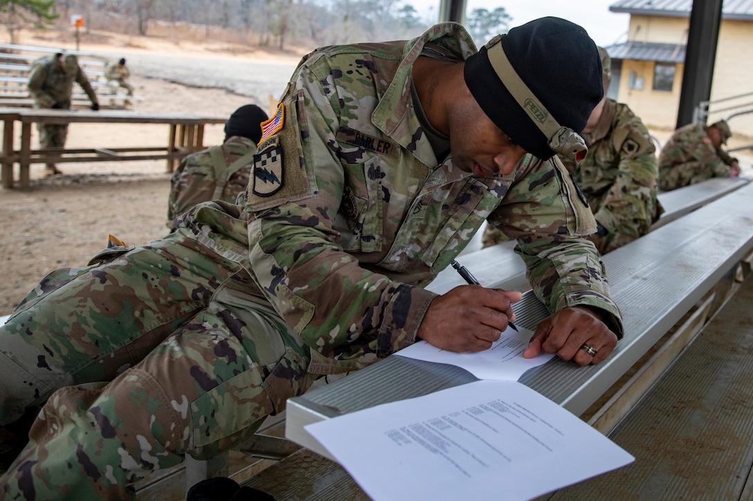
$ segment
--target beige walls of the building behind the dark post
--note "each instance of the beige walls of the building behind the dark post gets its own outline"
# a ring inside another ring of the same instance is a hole
[[[630,16],[628,39],[653,44],[687,44],[687,26],[690,20],[679,17]],[[642,118],[647,126],[674,129],[682,86],[684,65],[678,64],[672,92],[653,90],[654,62],[624,60],[620,72],[617,100],[626,103]],[[630,74],[643,79],[642,89],[630,87]],[[732,96],[745,95],[736,99]],[[722,100],[721,102],[718,102]],[[742,109],[753,109],[753,23],[724,20],[717,45],[715,74],[712,80],[712,105],[709,123]],[[730,118],[733,139],[751,144],[753,140],[753,113]]]

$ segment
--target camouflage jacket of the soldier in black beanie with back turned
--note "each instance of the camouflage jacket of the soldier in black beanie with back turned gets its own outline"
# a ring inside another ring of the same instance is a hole
[[[167,226],[172,220],[200,202],[235,202],[248,186],[256,144],[234,135],[219,146],[184,157],[170,178]]]

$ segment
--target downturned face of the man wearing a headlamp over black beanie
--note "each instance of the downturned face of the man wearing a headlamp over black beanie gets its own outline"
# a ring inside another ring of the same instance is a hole
[[[470,91],[464,97],[450,113],[453,165],[477,177],[510,174],[526,151],[486,116]]]

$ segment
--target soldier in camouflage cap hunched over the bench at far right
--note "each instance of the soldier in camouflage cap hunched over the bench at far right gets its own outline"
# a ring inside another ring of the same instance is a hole
[[[721,147],[732,135],[724,120],[691,123],[672,134],[659,155],[659,188],[670,191],[711,178],[740,174],[737,159]]]

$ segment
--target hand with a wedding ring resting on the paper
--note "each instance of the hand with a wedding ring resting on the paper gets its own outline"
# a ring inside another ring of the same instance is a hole
[[[603,314],[605,312],[587,306],[556,311],[538,324],[528,348],[523,351],[523,357],[533,358],[543,350],[580,366],[605,360],[617,346],[617,334],[611,332],[602,321]],[[584,345],[590,346],[596,353],[589,354],[583,349]]]

